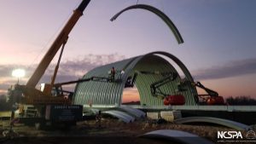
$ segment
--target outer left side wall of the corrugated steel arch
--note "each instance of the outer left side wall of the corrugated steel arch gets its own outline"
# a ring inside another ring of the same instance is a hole
[[[90,78],[94,76],[108,78],[108,71],[112,66],[114,66],[116,70],[123,70],[132,59],[133,58],[96,67],[95,69],[86,73],[83,78]],[[126,75],[127,73],[125,72],[121,79],[127,78]],[[124,87],[124,80],[120,83],[98,81],[80,83],[76,86],[73,101],[74,103],[80,105],[89,104],[89,102],[97,105],[119,105],[119,103],[121,103],[121,95],[123,94]]]

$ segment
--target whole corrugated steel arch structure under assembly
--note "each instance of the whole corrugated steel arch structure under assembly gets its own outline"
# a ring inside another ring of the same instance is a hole
[[[159,72],[176,72],[176,69],[172,66],[170,62],[160,57],[159,55],[166,55],[174,62],[177,66],[180,66],[181,70],[185,74],[185,79],[189,83],[183,83],[184,91],[179,91],[177,85],[181,84],[183,79],[177,75],[177,78],[169,84],[161,87],[161,90],[166,94],[175,95],[180,94],[185,96],[185,105],[196,105],[197,103],[197,91],[191,83],[194,80],[189,73],[189,70],[183,63],[177,59],[174,55],[168,54],[166,52],[152,52],[147,55],[140,55],[126,60],[121,60],[108,64],[105,66],[99,66],[90,72],[86,73],[83,78],[90,77],[108,77],[108,71],[112,66],[116,70],[124,70],[125,73],[120,77],[121,81],[117,83],[107,83],[107,82],[96,82],[90,81],[85,83],[77,84],[75,93],[73,96],[73,103],[79,105],[114,105],[119,106],[122,101],[123,90],[125,88],[126,79],[131,76],[136,71],[159,71]],[[163,78],[160,75],[138,75],[136,85],[138,92],[140,94],[140,100],[142,105],[147,106],[162,106],[163,100],[154,97],[150,92],[150,84]]]

